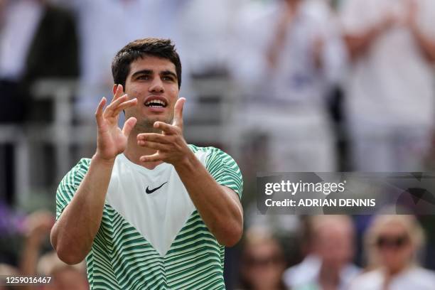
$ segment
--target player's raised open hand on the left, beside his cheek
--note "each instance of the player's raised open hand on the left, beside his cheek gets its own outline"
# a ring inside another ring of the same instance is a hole
[[[118,85],[112,102],[103,111],[106,102],[106,98],[103,97],[95,112],[98,127],[96,156],[105,161],[114,161],[116,156],[126,149],[131,129],[137,122],[136,118],[131,117],[121,130],[118,127],[119,113],[135,106],[137,99],[129,100],[127,95],[123,95],[122,85]]]

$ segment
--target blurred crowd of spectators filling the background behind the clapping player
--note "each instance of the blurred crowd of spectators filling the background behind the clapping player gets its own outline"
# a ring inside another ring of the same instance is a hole
[[[247,230],[227,255],[237,265],[229,289],[433,288],[434,274],[417,266],[435,268],[421,255],[435,254],[433,220],[259,216],[252,200],[257,171],[430,170],[434,27],[434,0],[0,0],[0,274],[86,289],[85,269],[49,251],[53,218],[14,208],[16,148],[1,133],[53,119],[53,103],[34,95],[41,79],[75,80],[69,113],[93,124],[112,95],[117,50],[161,37],[181,55],[186,119],[203,109],[198,80],[232,84],[227,134],[237,139],[229,151],[245,179]]]

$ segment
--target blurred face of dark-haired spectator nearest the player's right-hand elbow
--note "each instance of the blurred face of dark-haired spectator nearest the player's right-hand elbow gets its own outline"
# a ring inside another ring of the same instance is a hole
[[[250,289],[279,289],[285,269],[283,252],[274,240],[245,248],[241,272]]]

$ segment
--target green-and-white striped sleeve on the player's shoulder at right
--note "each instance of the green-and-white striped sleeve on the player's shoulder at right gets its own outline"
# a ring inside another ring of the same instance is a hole
[[[234,159],[224,151],[213,148],[205,161],[207,168],[215,181],[221,186],[227,186],[242,198],[243,178],[239,166]]]

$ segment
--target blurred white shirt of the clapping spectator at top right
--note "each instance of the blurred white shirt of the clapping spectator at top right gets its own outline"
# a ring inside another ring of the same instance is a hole
[[[418,0],[418,24],[435,41],[435,1]],[[342,20],[346,34],[358,35],[393,11],[406,17],[406,0],[347,0]],[[351,119],[380,124],[432,124],[435,77],[409,28],[397,24],[378,36],[353,64],[346,108]]]

